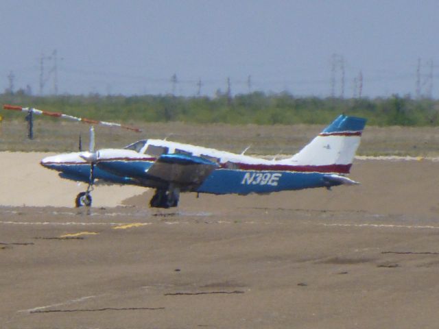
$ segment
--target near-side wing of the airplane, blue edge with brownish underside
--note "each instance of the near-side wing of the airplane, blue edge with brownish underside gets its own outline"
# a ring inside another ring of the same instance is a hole
[[[200,156],[187,154],[162,154],[146,174],[180,186],[198,186],[219,165]]]

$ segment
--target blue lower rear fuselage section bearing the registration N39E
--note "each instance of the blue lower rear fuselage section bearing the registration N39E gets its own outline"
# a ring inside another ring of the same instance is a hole
[[[284,190],[324,187],[327,173],[292,171],[241,171],[217,169],[197,189],[200,193],[228,194],[272,193]]]

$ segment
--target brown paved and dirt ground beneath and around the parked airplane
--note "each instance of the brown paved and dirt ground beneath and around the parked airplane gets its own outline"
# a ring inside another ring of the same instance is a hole
[[[84,186],[0,154],[1,328],[437,328],[439,163],[355,160],[358,186],[182,195]],[[25,204],[26,206],[22,206]]]

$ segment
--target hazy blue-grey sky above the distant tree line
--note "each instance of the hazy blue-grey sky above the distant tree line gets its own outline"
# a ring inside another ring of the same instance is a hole
[[[213,96],[230,78],[233,94],[353,97],[361,72],[366,97],[439,98],[438,14],[438,0],[0,0],[0,91],[12,73],[39,94],[44,55],[54,93],[56,50],[58,94],[191,96],[201,81]]]

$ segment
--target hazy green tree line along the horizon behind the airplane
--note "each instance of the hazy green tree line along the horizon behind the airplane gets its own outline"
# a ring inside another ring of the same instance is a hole
[[[326,124],[338,114],[366,117],[368,125],[439,125],[439,101],[392,95],[387,98],[338,99],[294,97],[289,93],[254,92],[230,97],[176,97],[173,95],[58,95],[3,93],[11,103],[78,117],[121,122],[229,123],[235,125]],[[2,117],[19,114],[4,111]],[[22,116],[21,116],[22,117]]]

